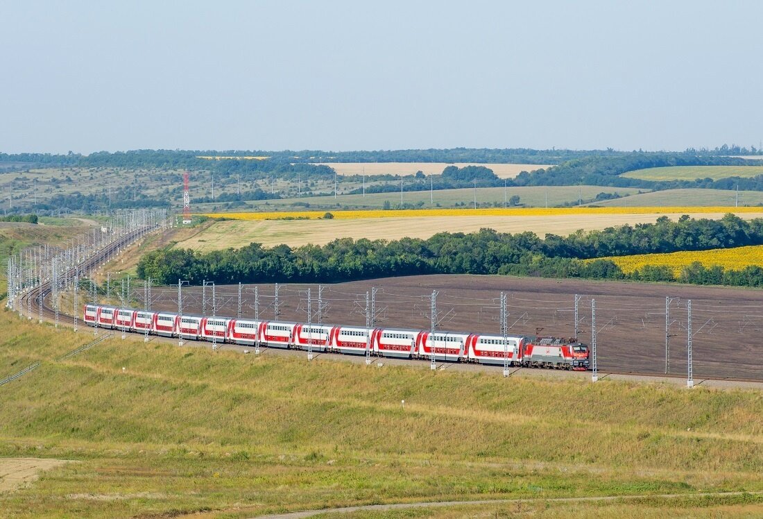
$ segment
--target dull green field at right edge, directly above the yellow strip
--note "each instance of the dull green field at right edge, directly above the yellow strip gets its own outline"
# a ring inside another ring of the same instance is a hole
[[[761,204],[763,204],[763,192],[739,192],[740,207]],[[732,189],[666,189],[665,191],[647,192],[617,200],[599,201],[595,205],[604,207],[663,207],[671,205],[733,207],[736,205],[736,191]]]

